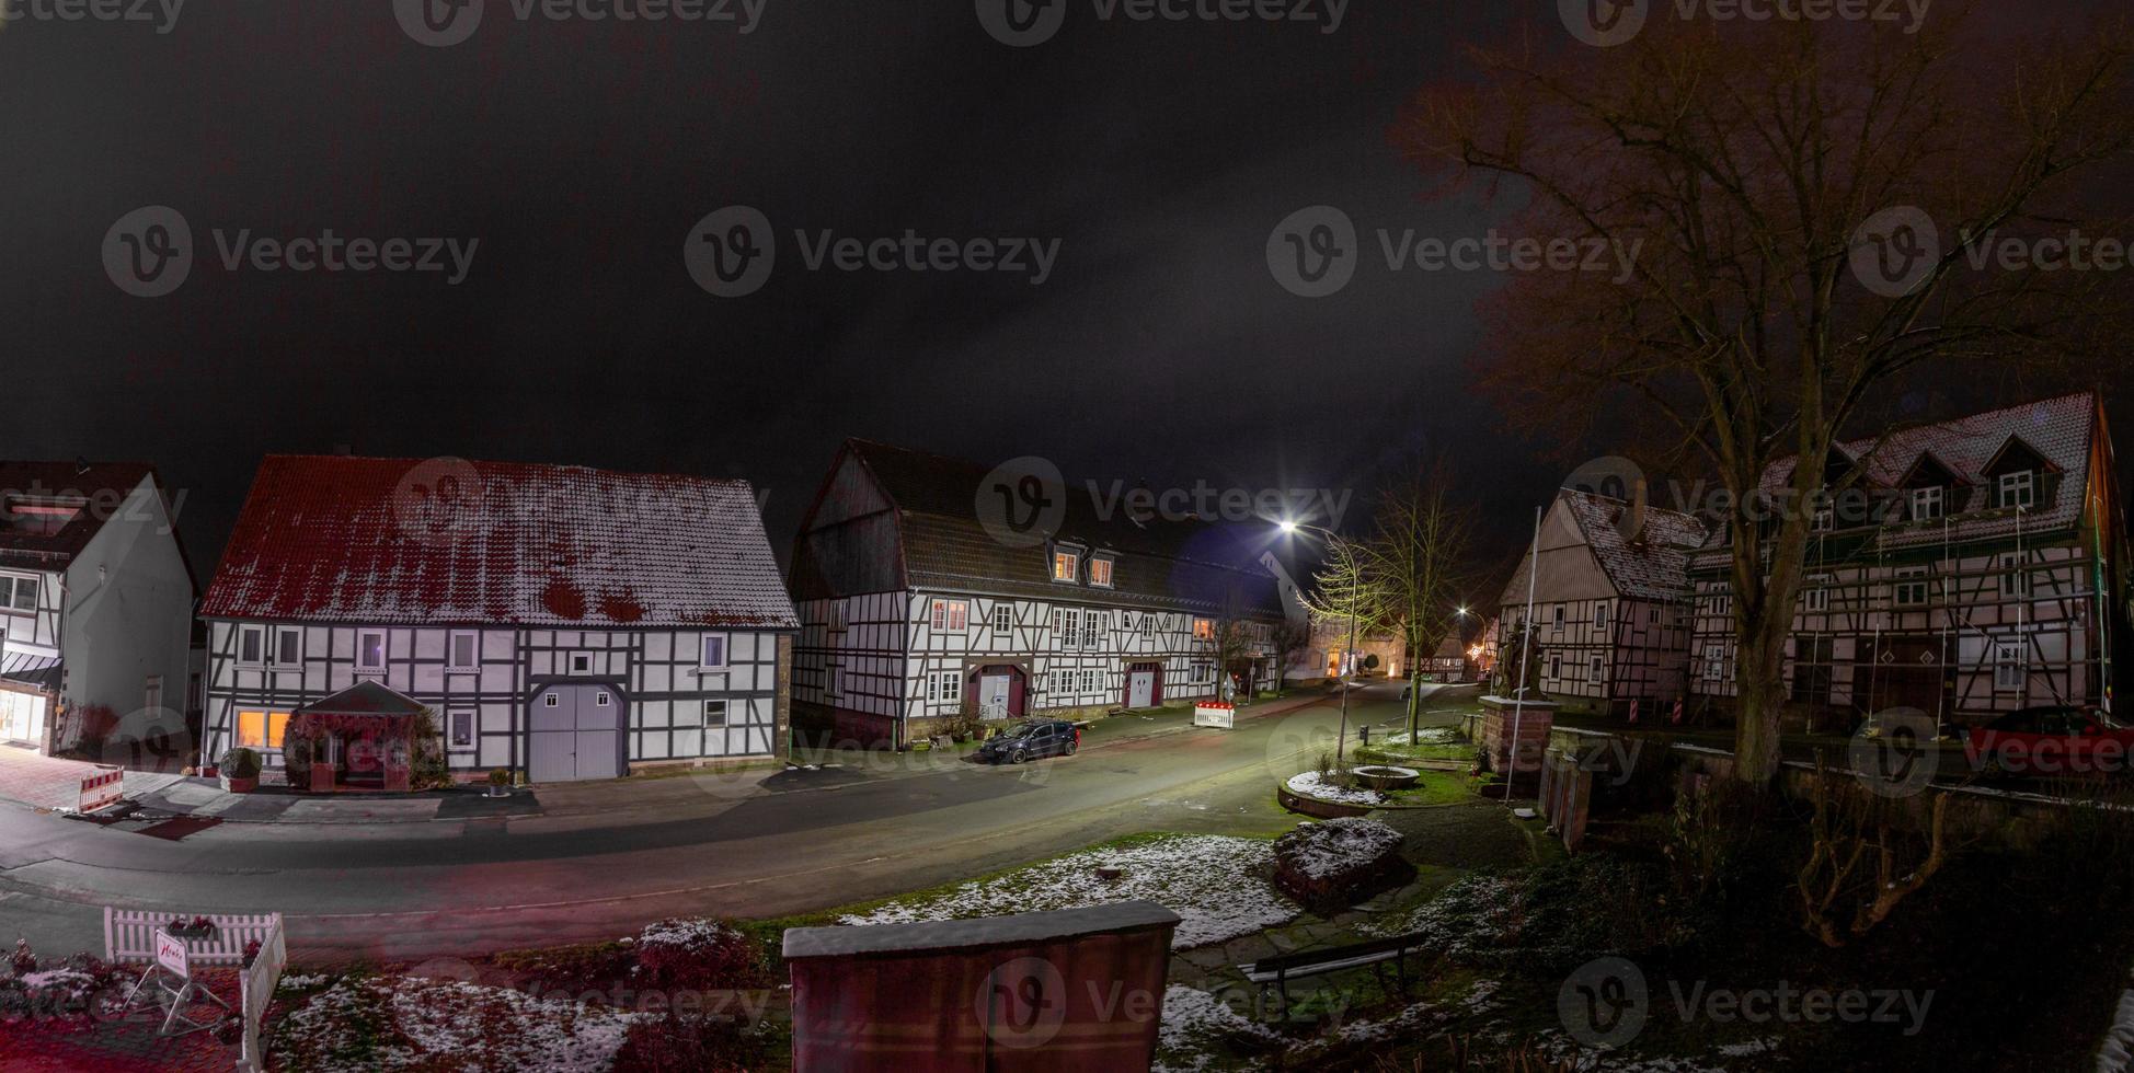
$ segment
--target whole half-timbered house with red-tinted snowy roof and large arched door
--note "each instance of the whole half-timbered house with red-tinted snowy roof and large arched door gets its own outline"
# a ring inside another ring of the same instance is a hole
[[[397,698],[457,776],[785,755],[798,619],[738,480],[269,457],[201,619],[209,762],[241,744],[277,772],[290,715],[324,710],[324,759],[363,785],[348,727]]]

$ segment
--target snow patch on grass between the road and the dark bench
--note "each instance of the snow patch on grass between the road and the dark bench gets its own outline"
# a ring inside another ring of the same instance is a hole
[[[1103,845],[849,913],[839,924],[911,924],[924,919],[999,917],[1048,909],[1146,898],[1178,913],[1172,947],[1187,949],[1287,924],[1297,907],[1274,892],[1268,872],[1274,849],[1259,838],[1165,834],[1146,843]],[[1118,868],[1116,881],[1097,868]]]

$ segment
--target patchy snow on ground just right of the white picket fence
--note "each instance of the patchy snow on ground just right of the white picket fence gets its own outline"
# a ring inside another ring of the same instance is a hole
[[[286,1069],[540,1069],[600,1073],[634,1013],[452,979],[348,977],[273,1028]]]

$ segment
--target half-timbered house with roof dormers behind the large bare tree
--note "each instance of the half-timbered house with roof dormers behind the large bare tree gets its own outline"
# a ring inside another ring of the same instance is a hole
[[[1763,480],[1771,495],[1795,461]],[[2064,395],[1840,444],[1822,461],[1790,700],[1974,723],[2113,702],[2125,521],[2096,395]],[[1848,474],[1863,480],[1848,484]],[[1731,548],[1697,555],[1694,691],[1737,695]]]

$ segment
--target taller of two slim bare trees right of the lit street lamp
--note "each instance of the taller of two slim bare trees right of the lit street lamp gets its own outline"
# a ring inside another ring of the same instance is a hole
[[[1366,572],[1383,621],[1408,646],[1408,732],[1421,710],[1421,663],[1460,627],[1460,582],[1472,529],[1453,506],[1443,463],[1421,469],[1379,495]]]

